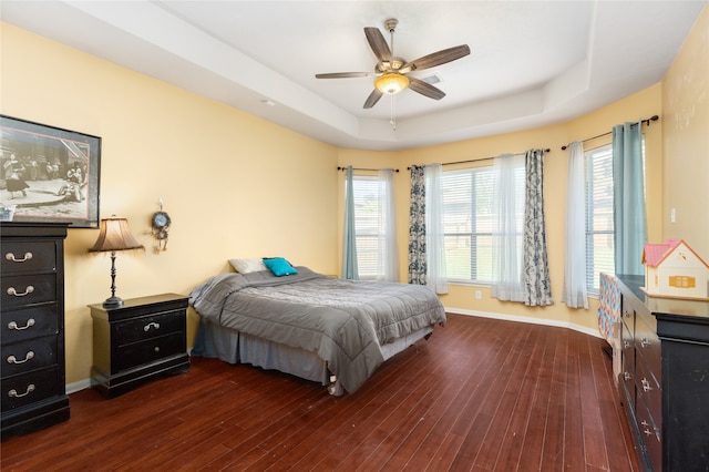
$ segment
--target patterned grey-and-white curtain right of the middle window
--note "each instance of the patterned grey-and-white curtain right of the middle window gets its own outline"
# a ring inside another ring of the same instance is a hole
[[[552,305],[552,283],[546,253],[544,218],[544,151],[527,151],[525,156],[526,198],[524,209],[524,304]]]

